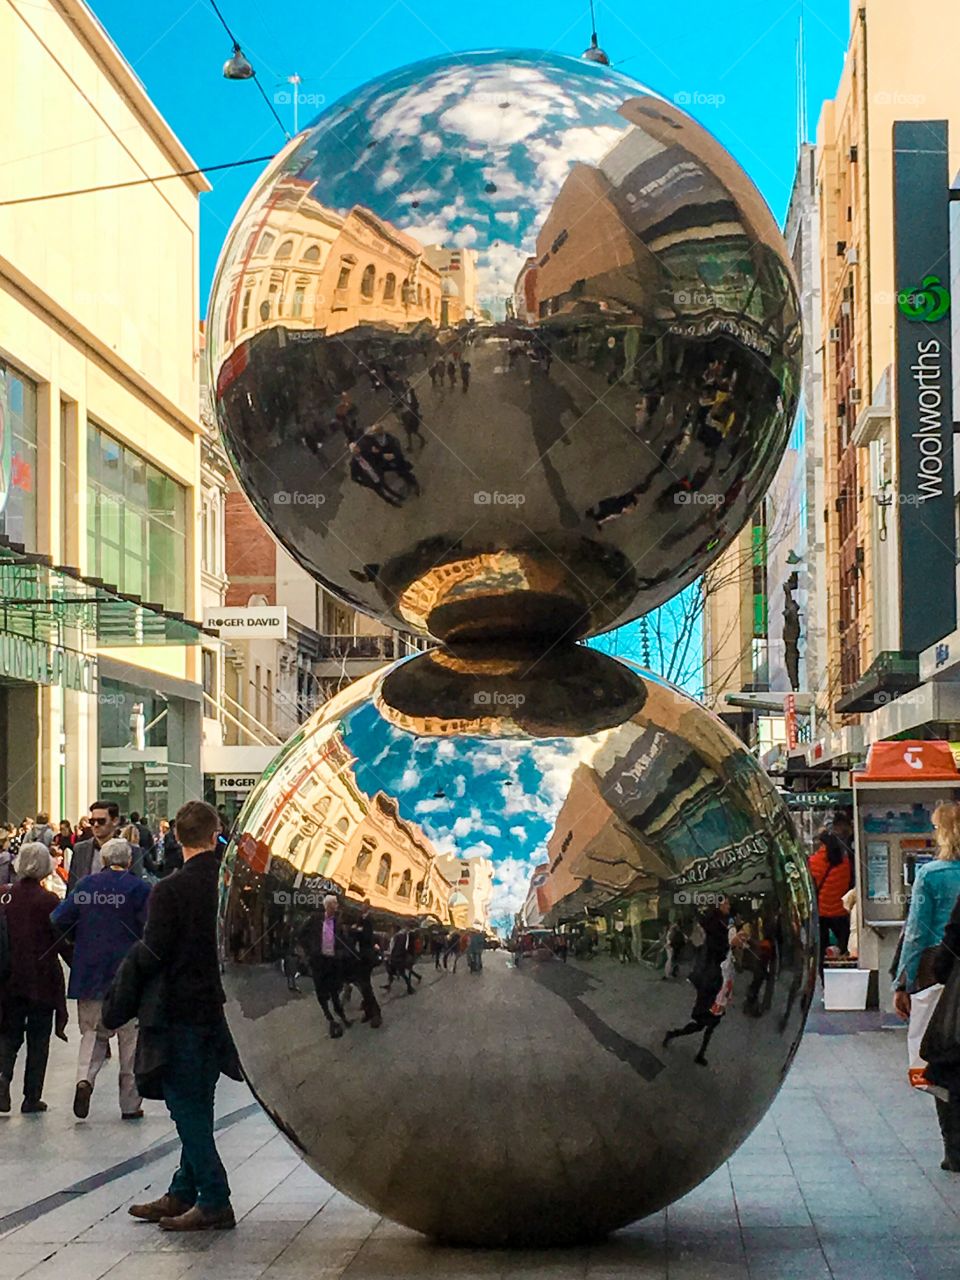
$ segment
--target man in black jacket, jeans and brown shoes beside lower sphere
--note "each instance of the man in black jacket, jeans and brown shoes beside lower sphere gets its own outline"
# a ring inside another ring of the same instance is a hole
[[[166,1231],[206,1231],[236,1226],[214,1142],[214,1093],[230,1048],[216,948],[220,818],[211,805],[191,800],[175,828],[183,867],[150,895],[143,950],[164,975],[163,1094],[183,1149],[166,1194],[131,1204],[129,1212]]]

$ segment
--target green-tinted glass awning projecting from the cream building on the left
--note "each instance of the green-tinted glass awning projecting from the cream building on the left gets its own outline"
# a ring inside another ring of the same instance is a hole
[[[0,632],[61,644],[65,628],[97,649],[197,644],[204,632],[182,613],[83,577],[0,536]]]

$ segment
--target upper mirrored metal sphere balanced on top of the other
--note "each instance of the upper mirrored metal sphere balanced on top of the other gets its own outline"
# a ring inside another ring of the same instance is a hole
[[[285,147],[207,351],[282,543],[462,641],[599,632],[692,582],[773,476],[800,340],[773,218],[700,124],[598,61],[485,52]]]

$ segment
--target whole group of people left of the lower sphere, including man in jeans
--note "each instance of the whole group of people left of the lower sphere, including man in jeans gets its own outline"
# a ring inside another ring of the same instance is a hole
[[[47,814],[4,833],[0,864],[0,1112],[12,1108],[17,1059],[26,1115],[44,1100],[50,1038],[68,1038],[76,1001],[79,1048],[73,1114],[90,1115],[115,1043],[123,1120],[163,1100],[180,1139],[166,1194],[129,1212],[168,1231],[234,1225],[214,1143],[220,1074],[241,1079],[224,1019],[216,940],[223,818],[193,800],[154,832],[97,800],[73,832]],[[69,969],[64,982],[61,960]]]

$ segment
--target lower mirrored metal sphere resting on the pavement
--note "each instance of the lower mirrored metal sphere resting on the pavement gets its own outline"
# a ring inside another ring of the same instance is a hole
[[[813,991],[809,893],[773,785],[686,695],[582,648],[430,652],[337,695],[251,795],[227,1014],[257,1098],[348,1196],[448,1240],[584,1240],[682,1196],[769,1106]],[[520,963],[433,954],[521,909]],[[421,950],[384,991],[397,929]]]

